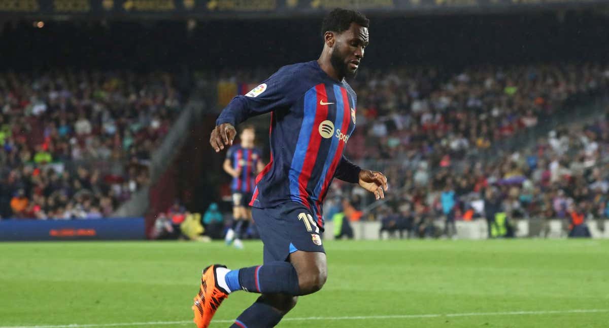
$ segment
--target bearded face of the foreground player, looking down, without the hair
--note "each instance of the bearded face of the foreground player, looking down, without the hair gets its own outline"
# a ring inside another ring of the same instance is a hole
[[[368,46],[368,28],[351,23],[348,30],[335,36],[330,62],[340,76],[353,78]]]

